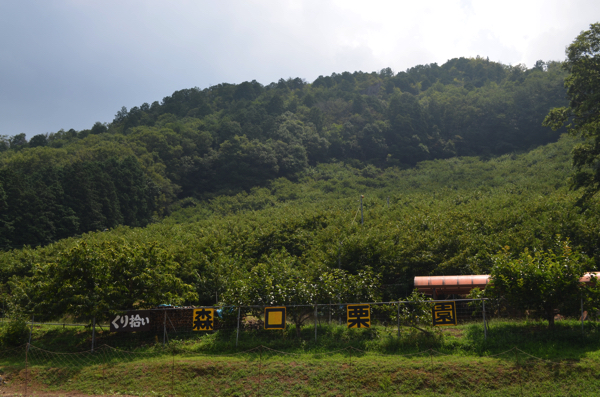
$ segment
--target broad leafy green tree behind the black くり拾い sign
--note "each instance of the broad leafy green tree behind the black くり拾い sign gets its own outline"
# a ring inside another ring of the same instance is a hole
[[[123,309],[196,299],[192,286],[176,276],[180,268],[156,243],[79,242],[56,261],[35,264],[32,278],[9,284],[12,300],[36,317],[106,319]]]

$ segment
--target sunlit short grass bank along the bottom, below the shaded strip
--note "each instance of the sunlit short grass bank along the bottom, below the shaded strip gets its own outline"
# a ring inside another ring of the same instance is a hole
[[[491,358],[187,354],[69,368],[34,364],[28,376],[38,389],[89,394],[572,396],[595,395],[599,368],[597,360],[549,363],[514,351]],[[23,377],[21,370],[10,379]]]

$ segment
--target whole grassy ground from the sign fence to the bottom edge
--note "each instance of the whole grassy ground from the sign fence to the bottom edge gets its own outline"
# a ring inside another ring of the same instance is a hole
[[[28,352],[30,391],[165,396],[600,395],[600,338],[594,322],[586,322],[582,335],[577,321],[560,321],[548,329],[539,321],[494,320],[487,340],[477,323],[438,328],[429,336],[403,327],[400,339],[389,327],[320,326],[317,342],[314,328],[307,326],[301,338],[295,337],[293,328],[244,331],[238,349],[235,333],[225,331],[180,335],[165,348],[147,338],[134,353],[100,347],[94,354],[42,350],[45,346],[60,351],[57,333],[62,330],[56,328],[34,329]],[[81,351],[89,342],[87,330],[64,332],[71,343],[63,345],[63,351]],[[24,358],[23,348],[20,354],[0,355],[3,376],[16,393],[24,393]]]

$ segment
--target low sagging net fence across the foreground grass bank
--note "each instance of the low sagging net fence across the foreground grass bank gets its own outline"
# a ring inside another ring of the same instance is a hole
[[[107,345],[60,353],[26,344],[0,350],[0,390],[12,395],[591,395],[598,366],[551,361],[512,348],[477,358],[427,349],[386,355],[354,347],[295,354],[257,346],[230,355]],[[317,375],[315,375],[317,374]],[[330,378],[330,379],[328,379]],[[332,381],[334,379],[335,381]],[[293,392],[293,393],[291,393]],[[591,394],[590,394],[591,393]]]

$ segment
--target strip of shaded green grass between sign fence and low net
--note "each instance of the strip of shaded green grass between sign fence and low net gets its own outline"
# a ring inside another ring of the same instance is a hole
[[[28,341],[29,328],[17,344]],[[0,336],[5,328],[0,325]],[[369,329],[348,329],[340,325],[321,324],[302,328],[296,336],[293,325],[284,331],[240,330],[236,347],[236,329],[215,332],[168,332],[167,342],[178,353],[233,354],[258,346],[286,353],[316,354],[353,347],[370,353],[402,355],[436,349],[455,356],[483,356],[518,347],[532,355],[550,360],[580,359],[600,351],[600,323],[586,321],[582,333],[577,320],[557,321],[554,329],[539,320],[501,320],[488,322],[487,339],[481,322],[456,327],[429,328],[423,333],[412,327],[401,327],[400,338],[395,326],[373,326]],[[41,349],[73,353],[91,347],[91,330],[84,327],[63,329],[61,326],[36,325],[32,345]],[[163,350],[163,333],[110,333],[96,329],[95,345],[109,345],[122,350],[156,353]],[[14,347],[14,345],[13,345]],[[0,351],[10,346],[0,347]]]

